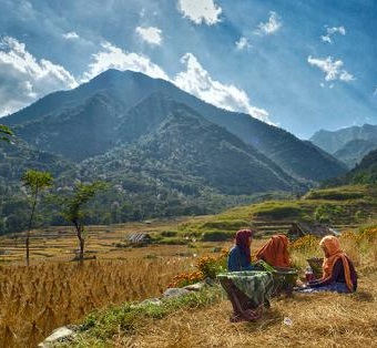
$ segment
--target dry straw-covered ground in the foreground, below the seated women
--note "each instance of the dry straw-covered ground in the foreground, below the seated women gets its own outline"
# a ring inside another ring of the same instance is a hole
[[[132,338],[120,335],[113,347],[377,347],[376,282],[374,270],[361,275],[354,295],[275,298],[259,320],[247,324],[230,323],[231,304],[224,299],[205,309],[177,311],[141,327]]]

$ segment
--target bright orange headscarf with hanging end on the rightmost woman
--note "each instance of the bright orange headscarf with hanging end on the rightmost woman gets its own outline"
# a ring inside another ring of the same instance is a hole
[[[333,268],[336,260],[338,258],[342,258],[347,287],[349,288],[349,290],[353,290],[354,285],[350,278],[348,257],[346,256],[345,253],[342,252],[338,238],[336,238],[335,236],[323,237],[319,242],[319,245],[322,247],[325,246],[326,249],[326,255],[324,258],[324,263],[322,265],[323,268],[322,278],[323,279],[329,278],[333,275]]]

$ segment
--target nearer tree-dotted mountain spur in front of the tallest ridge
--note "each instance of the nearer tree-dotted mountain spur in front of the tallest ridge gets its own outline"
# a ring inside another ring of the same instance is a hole
[[[160,112],[151,117],[146,112],[150,109]],[[173,183],[177,176],[183,183],[186,176],[186,185],[191,177],[200,186],[231,195],[299,187],[253,146],[191,108],[160,94],[134,108],[119,131],[123,145],[84,161],[86,170],[96,168],[99,176],[112,173],[119,178],[128,170],[141,167],[162,183]],[[125,146],[126,142],[132,145]]]

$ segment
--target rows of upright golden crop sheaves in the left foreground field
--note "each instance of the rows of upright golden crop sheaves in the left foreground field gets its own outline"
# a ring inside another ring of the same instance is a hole
[[[182,258],[172,266],[143,258],[2,266],[0,342],[34,347],[52,329],[77,323],[94,308],[159,296],[185,268]]]

